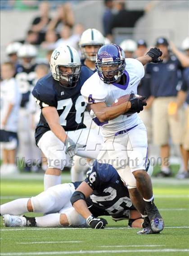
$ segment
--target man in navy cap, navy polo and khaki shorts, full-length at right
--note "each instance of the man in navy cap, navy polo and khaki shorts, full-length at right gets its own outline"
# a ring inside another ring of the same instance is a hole
[[[171,55],[166,38],[158,38],[156,46],[162,51],[163,62],[148,64],[146,72],[150,75],[153,101],[153,140],[160,146],[162,159],[161,172],[158,176],[171,175],[169,167],[169,133],[173,144],[181,144],[182,112],[179,120],[175,120],[173,113],[176,106],[176,95],[181,82],[180,69],[187,67],[183,55]],[[181,111],[181,110],[180,110]]]

